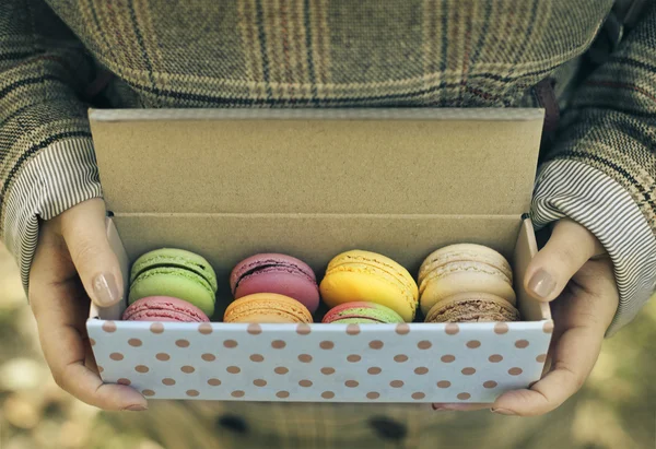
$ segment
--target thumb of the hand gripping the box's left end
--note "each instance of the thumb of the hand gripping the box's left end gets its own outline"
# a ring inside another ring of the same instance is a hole
[[[109,307],[124,295],[118,258],[105,231],[105,202],[93,199],[61,215],[61,235],[91,300]]]

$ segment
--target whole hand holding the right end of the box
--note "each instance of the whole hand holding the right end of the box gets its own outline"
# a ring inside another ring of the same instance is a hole
[[[555,324],[548,373],[527,390],[508,391],[493,404],[434,404],[435,410],[491,409],[504,415],[548,413],[589,376],[619,303],[612,262],[597,238],[571,220],[557,222],[526,273],[527,291],[552,302]]]

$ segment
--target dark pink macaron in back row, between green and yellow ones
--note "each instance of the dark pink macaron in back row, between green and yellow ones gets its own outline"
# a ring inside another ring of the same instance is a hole
[[[278,293],[301,302],[311,312],[319,306],[319,287],[309,265],[278,253],[251,256],[237,263],[230,275],[235,299],[255,293]]]

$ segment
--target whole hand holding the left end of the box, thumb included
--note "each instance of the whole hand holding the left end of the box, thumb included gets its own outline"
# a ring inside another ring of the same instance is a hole
[[[105,203],[84,201],[40,225],[30,272],[30,304],[46,362],[58,386],[104,410],[148,409],[131,387],[103,383],[85,322],[122,299],[122,275],[105,233]]]

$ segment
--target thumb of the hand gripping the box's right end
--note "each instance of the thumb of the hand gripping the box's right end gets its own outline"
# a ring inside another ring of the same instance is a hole
[[[555,299],[567,282],[591,257],[604,253],[593,233],[578,223],[562,218],[551,237],[526,270],[526,291],[539,300]]]

